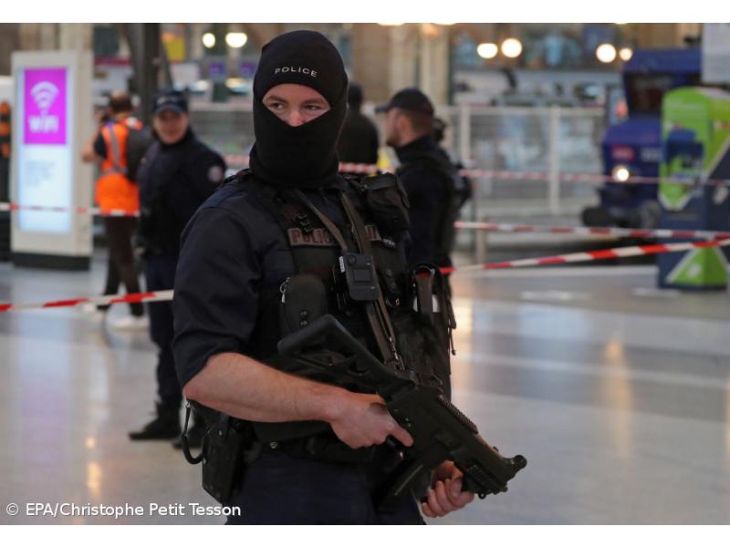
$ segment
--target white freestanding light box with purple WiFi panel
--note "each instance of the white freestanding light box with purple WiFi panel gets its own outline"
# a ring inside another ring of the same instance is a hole
[[[92,173],[80,161],[91,137],[89,52],[16,52],[12,198],[15,263],[88,266]],[[54,210],[49,210],[54,208]]]

